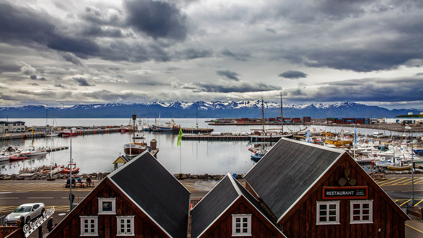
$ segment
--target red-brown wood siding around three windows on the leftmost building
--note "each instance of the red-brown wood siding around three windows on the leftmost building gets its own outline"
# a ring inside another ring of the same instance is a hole
[[[149,219],[135,204],[129,200],[126,195],[121,193],[116,186],[108,179],[103,184],[97,185],[97,188],[91,192],[77,208],[63,219],[62,222],[53,229],[51,236],[59,238],[80,237],[80,216],[98,216],[98,237],[100,238],[134,238],[134,237],[168,237],[151,219]],[[100,186],[102,186],[100,188]],[[98,214],[98,198],[115,197],[116,198],[116,214],[99,215]],[[88,199],[88,200],[86,200]],[[135,216],[134,232],[135,236],[116,236],[117,235],[117,219],[116,216]],[[63,223],[64,222],[64,223]],[[62,224],[63,223],[63,224]],[[58,229],[58,230],[56,230]]]

